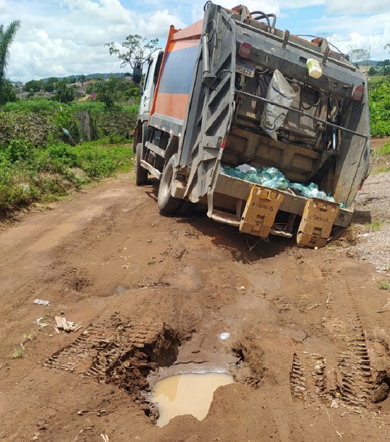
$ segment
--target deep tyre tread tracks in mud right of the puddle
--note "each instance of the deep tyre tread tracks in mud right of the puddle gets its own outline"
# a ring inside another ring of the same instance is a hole
[[[315,274],[315,269],[312,273]],[[354,293],[347,276],[333,265],[320,269],[321,281],[329,292],[326,318],[322,319],[335,344],[333,354],[324,356],[295,352],[290,369],[292,399],[305,406],[332,408],[343,407],[362,414],[375,413],[372,399],[378,387],[376,383],[373,349],[367,340]],[[315,304],[320,306],[324,304]],[[310,312],[309,312],[310,313]]]

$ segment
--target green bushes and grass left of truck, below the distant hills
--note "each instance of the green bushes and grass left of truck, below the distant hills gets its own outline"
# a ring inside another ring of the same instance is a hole
[[[50,202],[133,165],[137,105],[10,102],[0,112],[0,216]],[[84,141],[80,115],[90,115],[95,141]]]

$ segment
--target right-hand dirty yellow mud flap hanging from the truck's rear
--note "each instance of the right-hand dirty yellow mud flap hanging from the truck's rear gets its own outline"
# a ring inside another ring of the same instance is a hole
[[[296,242],[308,247],[323,247],[329,237],[333,222],[338,214],[336,202],[312,198],[306,202],[299,224]]]

